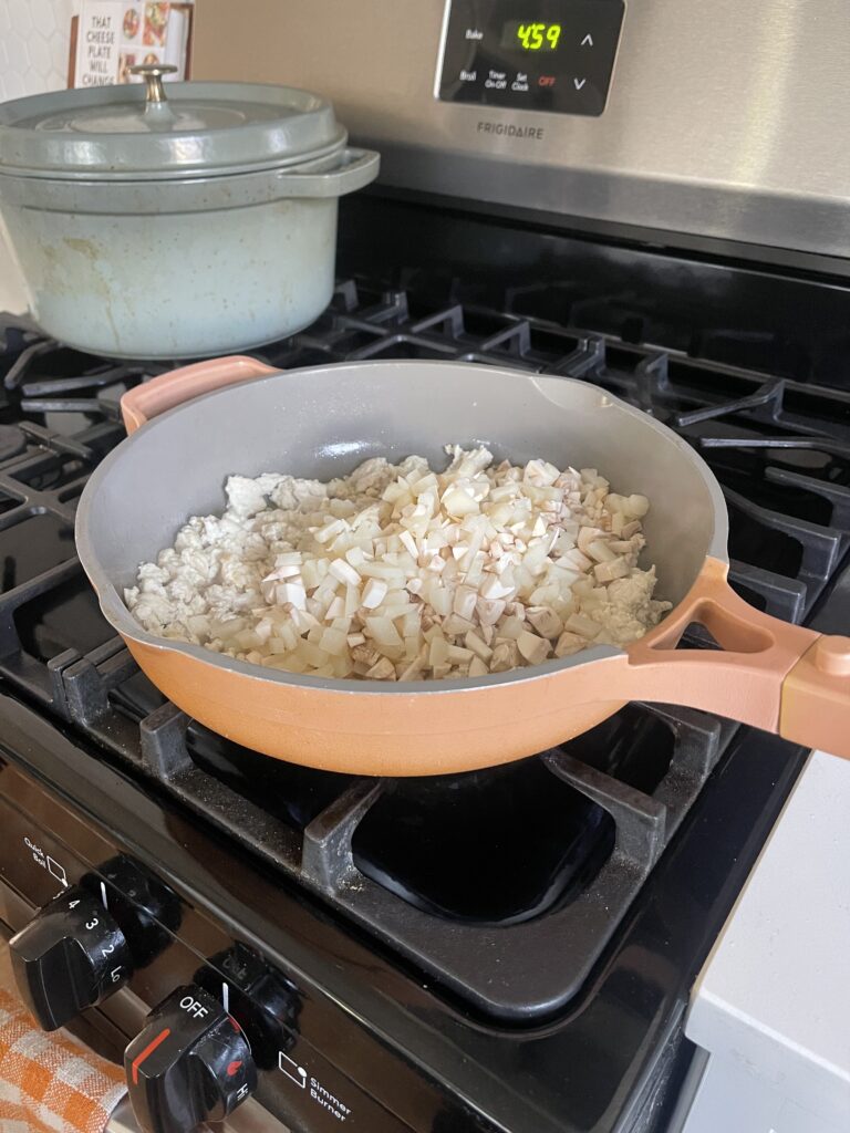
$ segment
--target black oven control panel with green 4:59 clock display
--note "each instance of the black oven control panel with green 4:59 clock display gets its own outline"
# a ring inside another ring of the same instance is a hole
[[[449,0],[437,96],[598,116],[624,10],[623,0]]]

